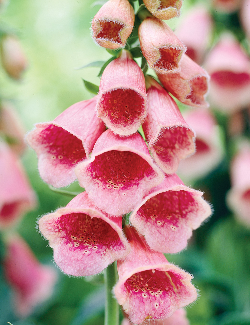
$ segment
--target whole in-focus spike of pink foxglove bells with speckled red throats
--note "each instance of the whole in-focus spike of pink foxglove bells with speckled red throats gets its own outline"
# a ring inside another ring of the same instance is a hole
[[[178,15],[181,5],[152,8],[152,2],[145,5],[162,19]],[[93,38],[110,49],[124,47],[134,19],[127,0],[109,0],[93,19]],[[27,136],[48,184],[67,186],[77,178],[85,188],[39,220],[55,262],[67,274],[87,276],[117,260],[114,293],[135,324],[170,317],[196,299],[192,276],[163,253],[184,249],[192,230],[211,214],[203,193],[175,174],[180,160],[195,151],[195,134],[168,94],[207,107],[208,74],[158,18],[144,19],[138,35],[164,87],[121,50],[105,68],[97,96],[37,124]],[[137,132],[141,124],[147,144]],[[128,213],[130,225],[122,228]]]

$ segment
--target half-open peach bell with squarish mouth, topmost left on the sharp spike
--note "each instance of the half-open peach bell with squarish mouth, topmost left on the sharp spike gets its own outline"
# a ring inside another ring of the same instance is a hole
[[[92,20],[93,39],[103,47],[124,47],[134,22],[134,9],[127,0],[109,0]]]

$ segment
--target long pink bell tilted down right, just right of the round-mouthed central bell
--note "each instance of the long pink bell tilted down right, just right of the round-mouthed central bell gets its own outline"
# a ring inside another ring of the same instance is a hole
[[[172,174],[180,160],[194,152],[194,133],[166,90],[149,76],[146,83],[148,115],[143,131],[155,161]]]

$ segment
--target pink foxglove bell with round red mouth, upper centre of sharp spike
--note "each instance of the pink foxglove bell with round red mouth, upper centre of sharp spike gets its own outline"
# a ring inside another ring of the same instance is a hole
[[[97,111],[102,121],[121,136],[135,133],[146,116],[144,75],[126,50],[102,74]]]

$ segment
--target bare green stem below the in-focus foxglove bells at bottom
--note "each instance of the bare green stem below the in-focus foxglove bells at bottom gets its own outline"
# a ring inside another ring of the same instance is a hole
[[[105,325],[118,325],[119,324],[119,305],[113,297],[112,289],[117,280],[116,262],[109,265],[104,270],[104,281],[106,290],[105,301]]]

